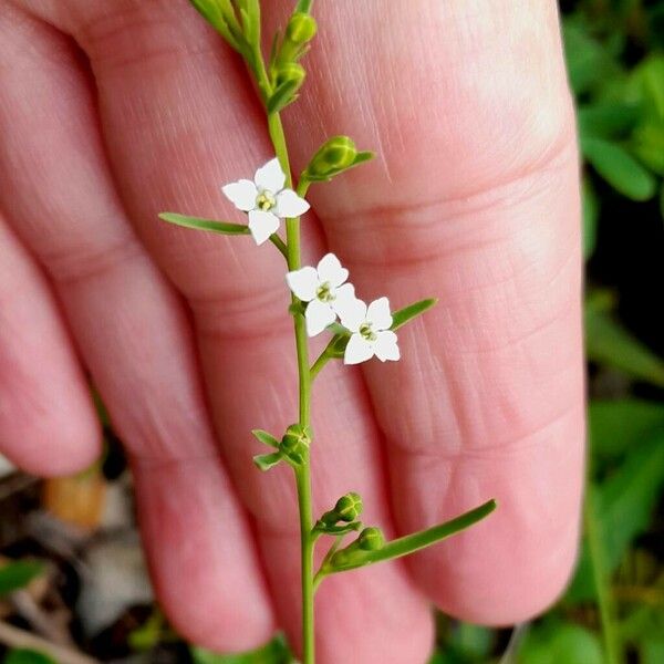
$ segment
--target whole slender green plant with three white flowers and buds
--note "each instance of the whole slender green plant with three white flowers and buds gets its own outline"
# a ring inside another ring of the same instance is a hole
[[[489,515],[496,504],[489,500],[452,521],[392,541],[385,541],[377,526],[362,523],[362,498],[355,492],[340,497],[324,513],[313,513],[310,456],[315,445],[311,391],[317,376],[330,362],[360,364],[374,357],[381,362],[400,361],[397,330],[433,307],[435,300],[422,300],[393,312],[388,297],[364,302],[349,281],[349,271],[333,253],[321,257],[314,266],[301,264],[300,224],[307,224],[302,217],[310,209],[305,199],[310,187],[373,158],[371,152],[359,152],[347,136],[334,136],[312,156],[297,180],[292,176],[280,113],[297,100],[304,83],[305,70],[300,61],[318,30],[311,14],[313,0],[298,2],[283,33],[271,40],[267,60],[261,48],[259,0],[190,1],[245,60],[266,108],[276,156],[255,174],[243,174],[242,179],[222,186],[224,195],[240,215],[246,215],[245,224],[173,212],[160,217],[172,224],[211,232],[250,235],[257,245],[270,241],[283,255],[284,289],[291,293],[291,305],[284,315],[293,319],[299,413],[297,421],[279,436],[258,428],[253,430],[258,440],[271,448],[253,460],[264,471],[278,464],[288,464],[294,473],[301,533],[302,660],[304,664],[312,664],[315,661],[314,594],[326,577],[429,547],[476,523]],[[282,221],[286,239],[280,235]],[[367,241],[371,240],[367,238]],[[319,334],[328,334],[329,343],[311,362],[308,338]],[[323,536],[328,537],[321,540]],[[332,543],[314,569],[317,542],[330,541],[330,536]]]

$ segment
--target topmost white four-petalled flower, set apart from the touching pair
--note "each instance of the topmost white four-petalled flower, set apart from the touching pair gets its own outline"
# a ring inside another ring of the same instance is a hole
[[[284,189],[286,175],[274,158],[259,168],[253,181],[241,179],[221,187],[225,196],[243,212],[249,212],[249,230],[262,245],[279,228],[280,219],[299,217],[309,204],[292,189]]]

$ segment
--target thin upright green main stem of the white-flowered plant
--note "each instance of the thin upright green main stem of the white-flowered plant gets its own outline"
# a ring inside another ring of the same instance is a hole
[[[311,4],[311,3],[309,3]],[[286,135],[279,113],[268,115],[268,128],[279,158],[281,168],[286,173],[287,186],[292,187],[292,174],[286,144]],[[304,185],[305,186],[305,185]],[[286,245],[288,269],[299,270],[301,264],[300,251],[300,219],[286,220]],[[292,303],[298,304],[293,295]],[[309,346],[304,317],[297,314],[294,319],[295,349],[298,353],[298,375],[300,385],[300,426],[310,426],[311,419],[311,374],[309,370]],[[313,623],[313,544],[312,536],[313,517],[311,507],[311,468],[309,455],[295,468],[295,483],[298,488],[298,508],[300,512],[300,551],[302,575],[302,657],[303,664],[314,664],[314,623]]]

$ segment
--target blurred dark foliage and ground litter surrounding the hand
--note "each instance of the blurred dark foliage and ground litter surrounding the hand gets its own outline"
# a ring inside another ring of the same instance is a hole
[[[430,664],[664,664],[664,0],[561,9],[584,160],[582,551],[564,596],[528,625],[489,630],[439,615]],[[0,457],[0,661],[291,662],[279,637],[220,656],[168,627],[101,404],[100,416],[107,454],[82,475],[44,483]]]

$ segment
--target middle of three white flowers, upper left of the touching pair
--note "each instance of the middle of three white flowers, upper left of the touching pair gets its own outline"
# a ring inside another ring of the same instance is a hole
[[[336,310],[355,299],[355,289],[344,283],[349,271],[341,267],[334,253],[323,256],[317,268],[307,267],[286,276],[289,288],[302,302],[309,336],[320,334],[336,320]]]

